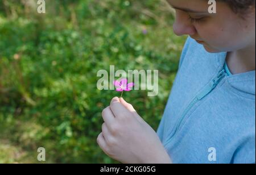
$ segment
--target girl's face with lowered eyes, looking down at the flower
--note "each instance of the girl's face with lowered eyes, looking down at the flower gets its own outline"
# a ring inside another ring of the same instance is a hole
[[[208,52],[232,52],[255,45],[255,9],[245,18],[225,2],[216,2],[216,14],[209,14],[208,0],[167,0],[176,10],[174,32],[189,35]]]

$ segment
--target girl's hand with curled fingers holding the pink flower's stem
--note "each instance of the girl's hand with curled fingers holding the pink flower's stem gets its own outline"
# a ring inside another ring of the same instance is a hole
[[[156,132],[123,98],[113,98],[102,118],[97,143],[106,155],[121,163],[171,163]]]

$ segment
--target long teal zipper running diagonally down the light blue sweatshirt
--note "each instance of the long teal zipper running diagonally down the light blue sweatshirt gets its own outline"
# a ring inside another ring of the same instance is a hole
[[[172,138],[174,138],[176,132],[179,130],[180,128],[180,124],[183,121],[185,115],[187,115],[188,111],[192,109],[192,107],[201,99],[203,99],[205,96],[207,96],[217,85],[218,83],[222,80],[222,78],[225,77],[225,69],[221,69],[220,72],[218,73],[217,77],[213,78],[212,81],[210,81],[208,83],[208,85],[206,87],[204,87],[203,90],[200,91],[199,94],[196,95],[195,98],[193,98],[193,101],[191,103],[189,103],[189,105],[187,106],[187,108],[183,111],[181,118],[179,120],[179,122],[177,122],[176,124],[176,128],[174,133],[170,136],[170,138],[167,139],[166,144],[164,144],[164,147],[166,147],[166,145],[168,143],[170,143],[170,141],[172,140]]]

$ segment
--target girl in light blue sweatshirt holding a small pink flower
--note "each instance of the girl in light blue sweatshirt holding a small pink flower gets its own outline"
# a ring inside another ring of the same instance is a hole
[[[123,98],[97,143],[121,163],[255,163],[255,0],[168,0],[189,35],[157,134]]]

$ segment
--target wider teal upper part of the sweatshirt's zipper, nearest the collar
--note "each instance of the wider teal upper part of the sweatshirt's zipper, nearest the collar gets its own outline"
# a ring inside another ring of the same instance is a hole
[[[223,77],[225,77],[225,70],[221,69],[221,71],[218,73],[218,76],[213,78],[213,80],[209,82],[209,85],[206,86],[199,95],[197,95],[197,100],[201,100],[206,95],[208,95],[218,85]]]

